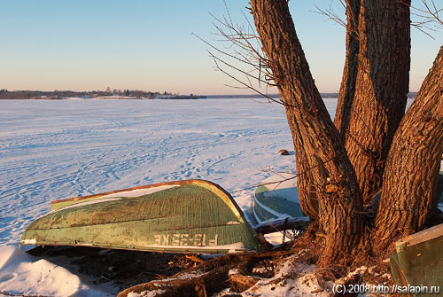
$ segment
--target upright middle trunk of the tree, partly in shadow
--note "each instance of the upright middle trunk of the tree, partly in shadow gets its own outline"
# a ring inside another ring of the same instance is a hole
[[[410,65],[408,4],[410,0],[383,4],[361,0],[356,36],[350,15],[354,16],[358,4],[347,3],[346,66],[335,123],[345,137],[365,205],[382,186],[392,137],[405,111]]]

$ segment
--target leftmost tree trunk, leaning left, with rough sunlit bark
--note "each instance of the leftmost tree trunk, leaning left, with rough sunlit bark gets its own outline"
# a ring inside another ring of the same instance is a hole
[[[299,199],[325,231],[320,266],[342,262],[361,239],[361,192],[338,130],[307,65],[286,0],[252,0],[255,27],[288,118],[299,174]]]

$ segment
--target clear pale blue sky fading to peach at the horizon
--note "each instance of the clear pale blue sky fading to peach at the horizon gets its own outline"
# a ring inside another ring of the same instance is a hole
[[[226,2],[234,21],[243,23],[248,2]],[[327,9],[331,3],[343,13],[337,1],[290,2],[322,92],[338,91],[345,59],[345,28],[315,12],[315,4]],[[208,12],[226,14],[222,0],[1,0],[0,12],[0,89],[245,92],[224,86],[236,83],[214,71],[207,45],[191,35],[217,38]],[[431,39],[412,29],[410,90],[419,89],[431,67],[442,31]]]

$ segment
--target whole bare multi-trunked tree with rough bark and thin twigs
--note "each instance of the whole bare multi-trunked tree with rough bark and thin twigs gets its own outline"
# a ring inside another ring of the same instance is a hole
[[[286,0],[251,0],[254,26],[247,21],[244,27],[235,26],[230,16],[216,19],[221,37],[238,49],[229,53],[213,47],[211,52],[225,58],[213,54],[217,68],[269,100],[276,99],[253,81],[280,92],[296,147],[300,204],[315,220],[312,228],[323,230],[317,232],[323,236],[315,238],[323,246],[321,267],[348,263],[348,255],[357,250],[384,257],[392,252],[395,239],[423,229],[436,207],[443,153],[443,50],[405,115],[410,10],[430,18],[440,12],[433,2],[423,2],[420,10],[411,8],[410,0],[342,2],[346,64],[334,123],[315,86]],[[373,227],[364,220],[363,205],[380,189]]]

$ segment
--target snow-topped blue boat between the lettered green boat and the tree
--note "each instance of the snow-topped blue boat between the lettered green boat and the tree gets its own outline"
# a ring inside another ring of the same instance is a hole
[[[261,182],[255,191],[253,214],[258,223],[299,218],[308,220],[299,204],[294,174],[281,173]]]

